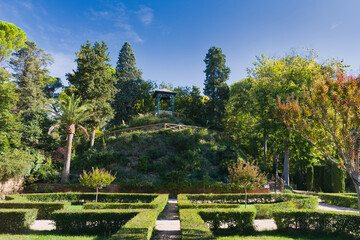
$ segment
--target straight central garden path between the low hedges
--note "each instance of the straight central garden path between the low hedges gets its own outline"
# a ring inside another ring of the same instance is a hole
[[[176,199],[169,199],[156,221],[153,240],[181,239],[179,211]]]

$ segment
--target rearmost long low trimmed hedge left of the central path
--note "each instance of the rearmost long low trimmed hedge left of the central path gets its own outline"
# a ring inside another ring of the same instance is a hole
[[[94,202],[96,193],[33,193],[8,195],[7,199],[26,198],[28,201],[36,202]],[[134,194],[134,193],[99,193],[98,202],[117,202],[117,203],[150,203],[158,194]]]

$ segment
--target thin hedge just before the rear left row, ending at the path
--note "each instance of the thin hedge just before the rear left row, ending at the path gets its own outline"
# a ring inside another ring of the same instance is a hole
[[[159,194],[151,203],[85,203],[84,209],[164,209],[168,194]]]

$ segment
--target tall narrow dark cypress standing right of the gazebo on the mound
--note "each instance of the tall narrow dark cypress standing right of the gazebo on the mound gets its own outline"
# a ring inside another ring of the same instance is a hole
[[[229,99],[230,68],[225,65],[225,55],[221,48],[211,47],[205,56],[206,64],[204,94],[210,98],[207,109],[207,120],[210,127],[219,128]],[[220,127],[221,128],[221,127]]]

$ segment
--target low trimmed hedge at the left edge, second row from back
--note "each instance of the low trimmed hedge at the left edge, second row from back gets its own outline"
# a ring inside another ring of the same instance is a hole
[[[0,208],[31,208],[38,209],[37,219],[50,219],[51,214],[56,210],[67,209],[70,203],[50,203],[50,202],[20,202],[20,201],[5,201],[0,202]]]

